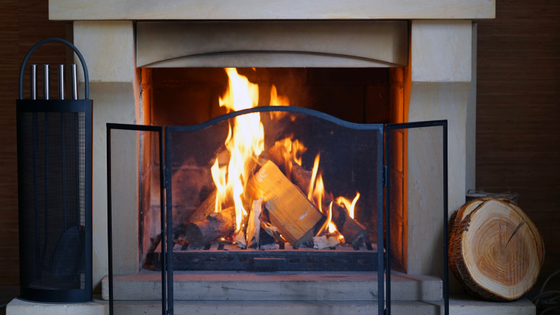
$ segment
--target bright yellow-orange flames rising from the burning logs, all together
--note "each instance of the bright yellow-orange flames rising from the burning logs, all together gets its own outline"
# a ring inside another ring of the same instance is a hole
[[[233,68],[226,69],[228,74],[228,89],[223,97],[219,98],[219,105],[226,107],[228,112],[239,111],[257,107],[259,102],[259,86],[250,83],[245,76],[240,76],[238,71]],[[270,90],[270,105],[289,106],[290,101],[286,96],[278,95],[276,86],[272,85]],[[270,112],[272,119],[281,119],[286,112]],[[259,155],[264,151],[264,126],[260,121],[260,114],[244,114],[233,118],[230,121],[228,136],[224,142],[229,155],[229,161],[216,157],[214,165],[211,167],[212,178],[216,184],[216,213],[231,206],[235,206],[235,233],[238,235],[245,233],[243,225],[247,213],[251,210],[252,200],[244,200],[244,191],[251,185],[250,180],[253,170],[259,160]],[[307,150],[300,141],[293,140],[293,136],[277,141],[276,145],[281,145],[284,150],[286,160],[286,177],[290,179],[292,162],[302,165],[301,157]],[[317,153],[313,164],[312,177],[309,184],[308,199],[320,212],[327,217],[325,223],[320,228],[317,235],[325,233],[337,234],[341,242],[344,240],[342,234],[337,231],[337,227],[332,222],[332,196],[329,195],[325,201],[325,185],[322,173],[319,170],[320,153]],[[351,218],[354,218],[354,208],[360,194],[357,193],[353,201],[344,197],[336,198],[334,201],[344,206],[349,211]],[[336,218],[336,217],[335,217]],[[244,239],[244,237],[243,237]],[[223,238],[222,238],[223,240]]]

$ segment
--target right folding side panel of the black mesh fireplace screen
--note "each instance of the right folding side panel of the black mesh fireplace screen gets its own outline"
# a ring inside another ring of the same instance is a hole
[[[446,128],[385,130],[390,314],[448,314]]]

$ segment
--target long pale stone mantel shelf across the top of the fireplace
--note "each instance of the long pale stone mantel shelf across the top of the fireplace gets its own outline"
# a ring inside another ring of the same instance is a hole
[[[495,16],[495,0],[49,0],[50,20],[472,20]]]

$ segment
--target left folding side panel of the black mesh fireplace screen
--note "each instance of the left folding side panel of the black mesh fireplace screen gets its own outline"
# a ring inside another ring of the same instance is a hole
[[[162,231],[161,131],[123,128],[108,127],[107,138],[110,313],[162,314],[163,277],[151,261]]]

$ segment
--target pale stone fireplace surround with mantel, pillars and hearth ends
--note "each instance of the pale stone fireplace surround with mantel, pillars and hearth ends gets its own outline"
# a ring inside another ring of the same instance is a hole
[[[69,33],[73,38],[68,39],[81,50],[90,71],[90,93],[94,100],[94,292],[100,292],[101,280],[107,275],[105,124],[146,124],[137,67],[403,67],[402,85],[392,91],[404,102],[402,120],[448,120],[448,197],[451,215],[465,203],[466,191],[474,188],[476,20],[494,16],[495,3],[488,0],[281,0],[268,3],[258,0],[50,0],[51,20],[73,21],[72,32]],[[177,24],[177,20],[198,22]],[[205,24],[205,20],[221,20],[223,25],[218,25],[213,32],[208,26],[216,23]],[[278,25],[281,20],[281,23],[289,23],[291,32],[275,28],[274,25]],[[251,30],[250,26],[247,28],[250,21],[265,26]],[[174,27],[176,25],[187,26],[182,29]],[[317,29],[327,30],[323,33],[325,36],[317,36],[320,33]],[[238,41],[228,42],[228,51],[241,53],[204,56],[207,52],[224,51],[224,46],[219,47],[218,44],[218,47],[213,47],[212,42],[204,40],[205,35],[208,35],[205,32],[221,34],[223,40],[238,36]],[[188,36],[185,37],[185,34]],[[258,45],[235,46],[235,42],[243,40],[243,36],[252,36],[250,42],[257,42]],[[182,40],[178,40],[181,37]],[[294,42],[291,38],[300,41]],[[156,44],[151,42],[154,40]],[[165,42],[176,44],[165,47]],[[235,47],[232,48],[232,44]],[[251,57],[247,58],[247,52],[251,51]],[[180,58],[184,56],[202,57]],[[83,74],[80,75],[83,88]],[[450,279],[450,292],[463,292],[453,276]],[[203,304],[193,304],[193,307],[202,311],[201,314],[215,314],[214,311],[219,309],[209,311]],[[235,311],[239,314],[249,314],[247,310],[252,306],[250,303],[233,306],[224,302],[222,307],[230,311],[232,307],[237,307]],[[481,311],[484,314],[503,314],[506,311],[503,307],[508,307],[508,314],[535,314],[535,307],[527,300],[493,304],[453,295],[450,314],[475,314]],[[277,314],[283,314],[288,308],[288,305],[275,306]],[[310,311],[315,311],[312,309]],[[31,310],[66,314],[61,313],[62,309],[57,309],[57,306],[16,300],[8,305],[8,314],[33,314]],[[78,314],[78,311],[81,311],[79,314],[105,314],[107,304],[98,301],[83,306],[74,305],[64,311],[67,314]],[[336,314],[345,313],[339,311]]]

